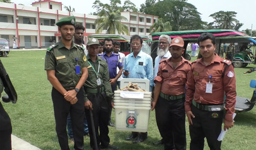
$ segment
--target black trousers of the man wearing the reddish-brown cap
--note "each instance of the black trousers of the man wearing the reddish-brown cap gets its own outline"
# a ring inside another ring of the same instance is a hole
[[[165,144],[165,150],[186,150],[185,98],[157,100],[156,124]]]

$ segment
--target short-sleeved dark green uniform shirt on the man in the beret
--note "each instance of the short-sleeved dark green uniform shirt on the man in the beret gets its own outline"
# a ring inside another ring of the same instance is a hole
[[[80,66],[79,74],[76,74],[77,64]],[[44,70],[55,70],[55,76],[64,88],[76,87],[82,76],[82,68],[88,66],[83,48],[74,42],[70,49],[61,41],[47,49]]]

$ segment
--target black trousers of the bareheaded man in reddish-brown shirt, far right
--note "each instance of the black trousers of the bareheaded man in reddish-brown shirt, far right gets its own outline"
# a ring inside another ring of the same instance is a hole
[[[191,105],[191,111],[195,118],[192,118],[193,125],[189,126],[190,150],[203,150],[205,137],[210,150],[220,150],[221,141],[217,139],[221,132],[224,112],[200,110],[194,105]]]

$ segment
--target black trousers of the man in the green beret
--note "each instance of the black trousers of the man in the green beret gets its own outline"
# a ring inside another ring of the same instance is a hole
[[[74,149],[84,149],[84,90],[83,88],[76,95],[77,103],[71,104],[55,88],[52,89],[53,109],[56,122],[56,133],[59,139],[61,150],[70,150],[67,138],[67,115],[70,113],[73,135],[75,139]]]

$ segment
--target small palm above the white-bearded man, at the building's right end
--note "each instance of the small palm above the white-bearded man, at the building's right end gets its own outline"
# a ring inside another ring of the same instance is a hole
[[[153,30],[154,29],[154,30]],[[155,22],[149,30],[151,31],[149,35],[151,35],[153,32],[168,32],[172,31],[172,26],[170,22],[163,22],[162,18],[158,18],[157,22]]]

